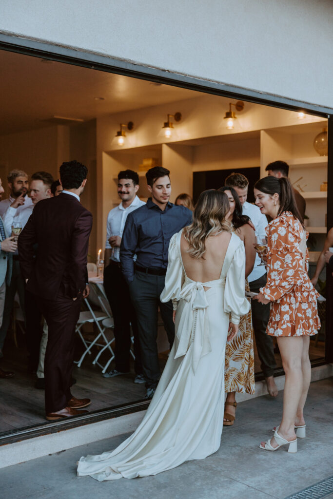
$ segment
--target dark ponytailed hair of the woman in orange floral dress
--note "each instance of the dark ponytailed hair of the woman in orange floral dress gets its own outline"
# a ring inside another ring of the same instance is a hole
[[[270,196],[277,193],[280,200],[278,216],[282,212],[291,212],[301,222],[302,227],[304,227],[301,214],[297,208],[293,186],[286,177],[281,177],[281,179],[263,177],[255,183],[255,189]]]

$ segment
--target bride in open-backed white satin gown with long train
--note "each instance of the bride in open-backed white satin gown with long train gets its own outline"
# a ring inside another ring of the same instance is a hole
[[[176,336],[155,395],[137,430],[119,447],[79,460],[79,477],[147,477],[219,449],[226,341],[250,307],[244,244],[230,233],[228,211],[224,193],[205,191],[193,224],[171,238],[161,300],[173,301]]]

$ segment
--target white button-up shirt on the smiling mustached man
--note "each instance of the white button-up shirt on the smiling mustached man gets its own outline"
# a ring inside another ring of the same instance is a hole
[[[111,245],[109,243],[109,238],[111,236],[120,236],[122,237],[122,233],[124,231],[125,227],[125,222],[127,219],[127,215],[131,212],[134,212],[137,208],[140,208],[140,206],[145,205],[146,203],[144,201],[141,201],[137,196],[133,199],[132,203],[127,207],[124,208],[122,205],[122,202],[116,206],[116,208],[113,208],[107,216],[107,223],[106,223],[106,243],[105,243],[105,248],[111,249]],[[111,260],[114,261],[120,261],[120,248],[112,248],[112,255],[111,255]]]

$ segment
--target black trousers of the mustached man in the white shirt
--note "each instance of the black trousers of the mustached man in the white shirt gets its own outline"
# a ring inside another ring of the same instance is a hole
[[[129,371],[131,348],[131,326],[134,336],[134,370],[142,374],[141,351],[135,309],[131,301],[127,282],[125,281],[120,265],[111,262],[104,270],[104,289],[109,300],[113,320],[114,337],[116,340],[114,356],[115,368],[120,372]]]

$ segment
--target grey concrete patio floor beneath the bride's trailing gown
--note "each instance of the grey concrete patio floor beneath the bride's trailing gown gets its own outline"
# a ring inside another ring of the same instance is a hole
[[[283,392],[239,404],[217,453],[156,477],[99,483],[77,478],[80,456],[114,449],[127,435],[75,447],[0,470],[5,499],[284,499],[333,475],[333,378],[311,384],[305,410],[307,438],[297,454],[258,448],[279,423]],[[84,431],[84,427],[82,428]],[[308,496],[307,496],[308,497]],[[311,496],[309,496],[311,497]],[[313,496],[324,497],[324,496]],[[333,498],[333,494],[326,495]]]

